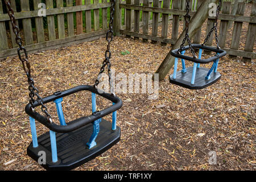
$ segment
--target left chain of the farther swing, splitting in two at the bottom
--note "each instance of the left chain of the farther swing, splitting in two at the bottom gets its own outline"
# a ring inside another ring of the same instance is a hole
[[[187,0],[186,11],[187,11],[187,14],[184,15],[184,19],[185,19],[185,38],[183,39],[183,42],[180,45],[180,49],[178,50],[178,52],[181,53],[182,49],[184,48],[184,44],[187,41],[188,46],[189,46],[189,48],[192,52],[193,57],[196,58],[195,50],[192,47],[191,40],[190,40],[189,35],[188,35],[188,24],[189,24],[190,19],[191,19],[191,15],[189,15],[189,0]]]

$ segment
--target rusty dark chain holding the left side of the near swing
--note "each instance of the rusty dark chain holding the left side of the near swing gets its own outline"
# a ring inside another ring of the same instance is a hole
[[[41,105],[41,110],[43,111],[43,113],[46,114],[46,118],[49,122],[52,122],[52,118],[51,115],[48,113],[48,109],[47,107],[43,104],[43,98],[39,96],[39,90],[35,87],[35,82],[33,80],[33,78],[31,77],[31,66],[30,66],[30,62],[28,61],[28,55],[27,55],[27,50],[26,48],[24,48],[22,46],[22,38],[19,36],[19,27],[17,26],[16,23],[16,19],[14,16],[14,11],[11,8],[11,2],[10,0],[7,1],[5,0],[5,4],[7,6],[7,13],[10,17],[11,20],[11,25],[13,27],[13,32],[16,36],[15,38],[15,42],[18,44],[18,56],[19,56],[19,60],[22,61],[22,67],[24,69],[24,72],[27,75],[27,79],[28,79],[28,90],[30,90],[29,93],[29,97],[30,97],[30,104],[31,104],[31,109],[32,111],[35,110],[35,96],[36,96],[36,101],[38,101],[38,103]],[[25,58],[23,58],[21,56],[20,51],[23,51]]]

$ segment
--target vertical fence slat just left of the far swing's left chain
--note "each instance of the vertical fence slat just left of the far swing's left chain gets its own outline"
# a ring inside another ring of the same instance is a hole
[[[179,10],[180,9],[180,0],[172,0],[172,9]],[[172,16],[172,40],[176,42],[179,34],[179,15]]]

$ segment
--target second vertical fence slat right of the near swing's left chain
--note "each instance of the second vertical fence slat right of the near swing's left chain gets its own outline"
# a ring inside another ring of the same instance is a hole
[[[33,0],[34,9],[39,10],[40,7],[38,7],[39,3],[41,3],[41,0]],[[36,38],[38,42],[44,42],[44,22],[43,17],[36,17],[35,18],[35,24],[36,24]]]

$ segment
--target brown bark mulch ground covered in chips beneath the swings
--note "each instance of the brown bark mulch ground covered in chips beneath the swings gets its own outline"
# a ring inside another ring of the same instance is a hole
[[[93,84],[105,48],[102,38],[30,54],[41,96]],[[112,68],[127,76],[154,73],[169,51],[170,46],[114,38]],[[31,133],[22,65],[9,57],[0,68],[0,170],[44,170],[26,154]],[[221,80],[209,88],[188,90],[166,77],[159,82],[157,100],[148,100],[149,94],[118,94],[123,101],[117,115],[121,141],[75,170],[255,170],[255,68],[255,60],[242,63],[241,57],[226,56],[218,66]],[[97,105],[103,109],[109,102],[99,98]],[[47,106],[57,122],[55,105]],[[89,115],[90,94],[65,97],[63,110],[67,121]],[[38,122],[36,128],[38,135],[48,131]],[[217,164],[209,164],[209,151],[217,153]]]

